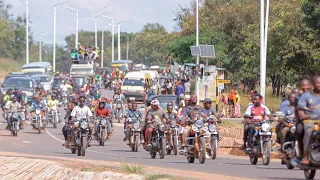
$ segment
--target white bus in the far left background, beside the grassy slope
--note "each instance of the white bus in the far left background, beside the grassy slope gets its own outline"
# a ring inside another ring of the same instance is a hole
[[[32,62],[23,65],[21,72],[28,75],[50,74],[52,72],[52,66],[49,62]]]

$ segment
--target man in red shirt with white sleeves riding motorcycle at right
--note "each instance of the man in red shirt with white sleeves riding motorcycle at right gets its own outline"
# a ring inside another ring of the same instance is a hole
[[[243,145],[241,149],[247,147],[248,132],[253,132],[254,128],[260,121],[264,120],[266,116],[271,118],[271,112],[267,106],[261,104],[262,96],[255,94],[252,97],[253,104],[248,106],[245,113],[244,131],[243,131]],[[251,135],[251,134],[250,134]]]

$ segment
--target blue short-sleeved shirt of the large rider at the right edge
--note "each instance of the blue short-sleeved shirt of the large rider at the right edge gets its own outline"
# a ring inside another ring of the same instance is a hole
[[[308,109],[308,110],[305,110],[305,113],[318,115],[318,118],[316,118],[315,120],[319,120],[320,119],[320,96],[314,94],[313,92],[303,93],[298,101],[298,108],[302,110]]]

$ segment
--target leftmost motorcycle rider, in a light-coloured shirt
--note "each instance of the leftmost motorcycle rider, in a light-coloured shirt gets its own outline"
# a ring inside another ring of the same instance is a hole
[[[18,119],[20,121],[20,129],[23,129],[23,122],[22,122],[22,117],[21,114],[19,113],[19,110],[21,109],[21,104],[17,101],[17,97],[13,96],[11,98],[12,101],[9,101],[6,106],[5,106],[5,113],[8,112],[8,125],[6,129],[10,129],[11,127],[11,120],[12,120],[12,114],[11,113],[17,113],[18,114]]]

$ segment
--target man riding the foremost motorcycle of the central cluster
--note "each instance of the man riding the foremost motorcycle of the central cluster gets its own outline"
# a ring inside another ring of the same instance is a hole
[[[194,120],[197,118],[197,116],[203,117],[204,115],[202,114],[201,111],[203,107],[197,105],[197,96],[192,95],[189,101],[189,105],[186,106],[183,109],[182,112],[182,120],[181,120],[181,126],[183,126],[183,132],[182,132],[182,142],[181,142],[181,150],[184,152],[187,152],[186,146],[188,144],[187,138],[190,136],[191,133],[191,127],[188,124],[188,119]]]

